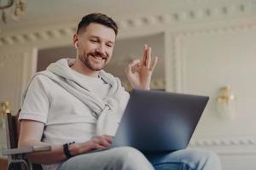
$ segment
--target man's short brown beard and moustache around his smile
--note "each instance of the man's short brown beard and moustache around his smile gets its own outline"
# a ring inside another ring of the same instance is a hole
[[[102,58],[102,60],[96,61],[96,58]],[[108,59],[108,56],[95,51],[88,54],[79,55],[79,59],[91,71],[101,71],[106,65],[106,60]]]

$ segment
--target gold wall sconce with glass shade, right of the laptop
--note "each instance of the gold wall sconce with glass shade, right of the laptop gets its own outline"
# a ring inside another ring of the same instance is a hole
[[[231,87],[219,88],[220,95],[217,97],[217,111],[221,117],[233,119],[236,116],[236,97],[231,94]]]

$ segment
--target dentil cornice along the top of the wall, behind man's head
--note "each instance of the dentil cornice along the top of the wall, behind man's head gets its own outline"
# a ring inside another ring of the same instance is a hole
[[[185,3],[193,3],[188,9],[180,9],[166,14],[151,14],[141,17],[117,20],[121,30],[139,28],[142,26],[166,26],[173,23],[186,23],[190,21],[225,20],[233,16],[242,17],[255,14],[256,3],[251,1],[238,1],[222,5],[201,5],[198,0],[186,0]],[[203,7],[202,7],[203,6]],[[193,7],[193,8],[192,8]],[[31,29],[30,29],[31,30]],[[50,26],[47,29],[34,29],[34,31],[17,31],[15,34],[7,32],[0,37],[0,48],[36,41],[47,41],[61,37],[71,37],[76,31],[76,26]]]

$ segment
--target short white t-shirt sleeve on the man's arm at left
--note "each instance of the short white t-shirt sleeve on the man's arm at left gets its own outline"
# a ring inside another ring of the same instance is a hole
[[[47,122],[49,113],[49,88],[47,77],[37,75],[32,79],[21,106],[19,121],[29,119],[33,121]]]

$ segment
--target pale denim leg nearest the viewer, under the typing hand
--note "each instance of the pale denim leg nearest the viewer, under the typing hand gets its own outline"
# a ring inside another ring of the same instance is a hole
[[[79,156],[63,162],[58,170],[154,170],[142,152],[119,147]]]

